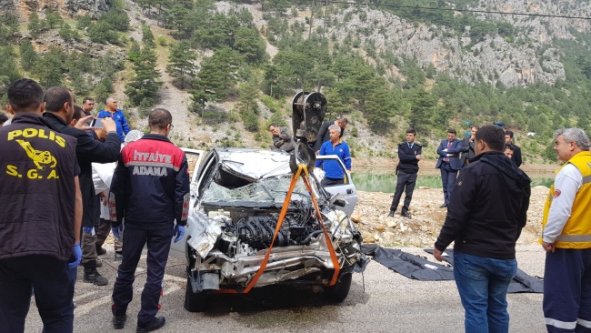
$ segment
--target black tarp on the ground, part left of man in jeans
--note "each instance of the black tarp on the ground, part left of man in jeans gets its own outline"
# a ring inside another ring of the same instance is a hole
[[[423,257],[411,255],[394,248],[384,248],[376,244],[361,246],[361,252],[373,256],[380,264],[404,275],[421,281],[446,281],[454,279],[450,267],[436,264]]]

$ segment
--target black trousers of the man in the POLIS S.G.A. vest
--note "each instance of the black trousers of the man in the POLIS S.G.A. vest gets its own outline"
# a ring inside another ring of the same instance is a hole
[[[74,284],[65,261],[49,256],[0,260],[0,332],[22,333],[31,305],[31,288],[46,333],[74,329]]]

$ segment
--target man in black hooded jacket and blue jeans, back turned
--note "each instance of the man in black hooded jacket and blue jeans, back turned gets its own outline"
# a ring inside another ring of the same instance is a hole
[[[506,291],[516,275],[516,240],[526,226],[530,179],[503,154],[498,126],[476,132],[476,157],[457,177],[434,257],[455,241],[454,277],[466,332],[508,332]],[[486,329],[487,328],[487,329]]]

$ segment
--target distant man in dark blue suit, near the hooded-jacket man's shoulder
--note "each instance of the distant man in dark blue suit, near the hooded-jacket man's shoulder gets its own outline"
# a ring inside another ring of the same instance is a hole
[[[462,141],[456,138],[456,130],[450,128],[447,130],[447,140],[441,140],[437,148],[436,168],[441,170],[441,182],[444,189],[444,204],[441,208],[449,205],[449,197],[452,195],[452,189],[456,183],[457,171],[462,169],[462,161],[460,161],[459,154],[462,151]]]

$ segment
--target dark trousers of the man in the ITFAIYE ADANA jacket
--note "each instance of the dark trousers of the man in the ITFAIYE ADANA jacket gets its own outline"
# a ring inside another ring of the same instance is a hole
[[[134,297],[135,268],[147,243],[147,278],[142,291],[142,309],[137,315],[137,325],[145,326],[152,322],[160,308],[162,279],[168,261],[170,242],[174,234],[171,224],[165,230],[133,230],[125,228],[123,234],[123,260],[117,271],[113,288],[113,314],[121,316]]]

